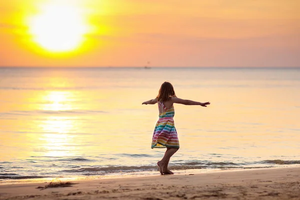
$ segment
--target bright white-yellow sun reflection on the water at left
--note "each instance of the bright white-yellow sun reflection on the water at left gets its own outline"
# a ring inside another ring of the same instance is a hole
[[[74,109],[74,94],[71,91],[47,91],[42,96],[43,103],[41,109],[49,111],[64,111]],[[60,114],[58,112],[58,114]],[[38,126],[44,132],[39,140],[45,156],[72,156],[76,145],[75,134],[71,134],[75,129],[75,116],[47,116]]]

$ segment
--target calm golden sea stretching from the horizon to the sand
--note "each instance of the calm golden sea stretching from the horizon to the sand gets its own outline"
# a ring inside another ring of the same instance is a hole
[[[151,149],[163,81],[175,173],[300,166],[300,68],[1,67],[0,184],[159,174]]]

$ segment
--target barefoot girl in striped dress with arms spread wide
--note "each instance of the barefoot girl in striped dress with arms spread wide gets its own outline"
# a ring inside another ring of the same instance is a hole
[[[184,105],[201,105],[206,107],[210,102],[197,102],[177,98],[171,83],[163,82],[156,98],[142,102],[142,104],[155,104],[158,102],[159,119],[155,125],[151,148],[165,148],[166,151],[160,161],[157,162],[159,172],[163,174],[173,174],[167,168],[170,157],[179,149],[177,131],[174,126],[174,106],[173,103]]]

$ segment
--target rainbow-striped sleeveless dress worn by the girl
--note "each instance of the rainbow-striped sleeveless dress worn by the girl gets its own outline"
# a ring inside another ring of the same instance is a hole
[[[162,106],[164,112],[159,114],[159,119],[155,125],[151,148],[179,148],[177,131],[174,126],[174,107],[167,109],[163,102],[158,101],[158,108]]]

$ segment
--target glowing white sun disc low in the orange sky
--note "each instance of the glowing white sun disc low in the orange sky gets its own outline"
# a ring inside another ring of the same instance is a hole
[[[88,32],[80,10],[71,5],[44,5],[41,12],[29,19],[33,41],[52,52],[76,49]]]

